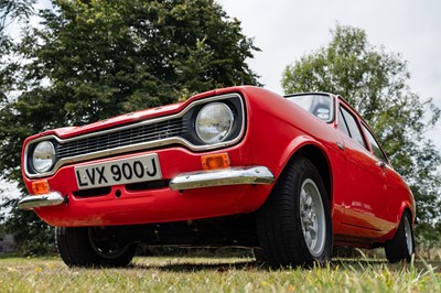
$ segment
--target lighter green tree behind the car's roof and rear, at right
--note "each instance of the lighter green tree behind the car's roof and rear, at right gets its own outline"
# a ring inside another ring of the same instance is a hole
[[[370,45],[361,29],[336,25],[331,33],[326,46],[286,67],[283,89],[340,94],[364,116],[411,187],[423,224],[417,226],[417,235],[429,239],[428,231],[439,227],[441,216],[437,170],[441,156],[424,134],[439,120],[440,109],[432,99],[422,100],[410,90],[401,55]]]

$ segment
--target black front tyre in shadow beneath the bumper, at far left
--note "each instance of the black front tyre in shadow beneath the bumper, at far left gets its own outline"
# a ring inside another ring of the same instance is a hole
[[[126,267],[138,248],[138,243],[116,239],[106,228],[56,227],[55,241],[68,267]]]

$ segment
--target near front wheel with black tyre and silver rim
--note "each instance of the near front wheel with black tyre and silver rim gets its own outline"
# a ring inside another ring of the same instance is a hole
[[[262,254],[272,268],[324,264],[332,257],[332,221],[323,180],[308,159],[287,165],[257,213]]]

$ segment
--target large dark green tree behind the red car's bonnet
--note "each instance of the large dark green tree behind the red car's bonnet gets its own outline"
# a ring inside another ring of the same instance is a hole
[[[214,0],[53,0],[52,6],[40,11],[41,25],[26,30],[18,47],[25,61],[20,95],[0,112],[0,170],[10,181],[20,181],[21,145],[33,133],[216,87],[258,84],[246,64],[258,48]],[[13,209],[8,227],[36,220],[24,217]]]

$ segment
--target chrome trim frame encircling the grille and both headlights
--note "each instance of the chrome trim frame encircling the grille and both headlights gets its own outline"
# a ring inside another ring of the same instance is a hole
[[[209,145],[194,145],[194,144],[192,144],[191,142],[189,142],[187,140],[185,140],[183,138],[175,137],[175,138],[169,138],[169,139],[163,139],[163,140],[144,142],[144,143],[137,143],[137,144],[132,144],[132,145],[121,146],[121,148],[118,148],[118,149],[110,149],[110,150],[98,151],[98,152],[93,152],[93,153],[88,153],[88,154],[76,155],[76,156],[72,156],[72,158],[68,158],[68,159],[62,159],[62,160],[58,160],[55,163],[55,165],[53,166],[53,169],[50,172],[45,172],[45,173],[42,173],[42,174],[31,174],[29,172],[29,170],[28,170],[28,151],[29,151],[29,146],[31,144],[37,143],[39,141],[52,140],[53,139],[53,140],[56,140],[58,143],[62,144],[62,143],[67,143],[67,142],[76,141],[76,140],[93,138],[93,137],[97,137],[97,135],[109,134],[109,133],[112,133],[112,132],[117,132],[117,131],[121,131],[121,130],[126,130],[126,129],[130,129],[130,128],[135,128],[135,127],[140,127],[140,126],[144,126],[144,124],[152,124],[152,123],[158,123],[158,122],[162,122],[162,121],[166,121],[166,120],[171,120],[171,119],[181,118],[189,110],[191,110],[192,108],[194,108],[194,107],[196,107],[198,105],[207,104],[207,102],[216,101],[216,100],[230,99],[230,98],[239,98],[239,100],[240,100],[240,110],[243,112],[240,133],[234,140],[223,141],[223,142],[219,142],[219,143],[216,143],[216,144],[209,144]],[[103,158],[103,156],[109,156],[109,155],[115,155],[115,154],[120,154],[120,153],[126,153],[126,152],[133,152],[133,151],[140,151],[140,150],[146,150],[146,149],[153,149],[153,148],[164,146],[164,145],[169,145],[169,144],[182,144],[184,146],[187,146],[192,151],[207,151],[207,150],[213,150],[213,149],[218,149],[218,148],[225,148],[225,146],[228,146],[228,145],[237,143],[243,138],[244,132],[245,132],[245,106],[244,106],[244,100],[243,100],[243,98],[240,97],[239,94],[236,94],[236,93],[226,94],[226,95],[222,95],[222,96],[215,96],[215,97],[211,97],[211,98],[196,100],[196,101],[190,104],[181,112],[175,113],[175,115],[171,115],[171,116],[160,117],[160,118],[150,119],[150,120],[143,120],[143,121],[138,122],[138,123],[132,123],[132,124],[128,124],[128,126],[122,126],[122,127],[118,127],[118,128],[112,128],[112,129],[108,129],[108,130],[98,131],[98,132],[87,133],[87,134],[83,134],[83,135],[79,135],[79,137],[65,139],[65,140],[62,140],[56,135],[45,135],[45,137],[37,138],[37,139],[31,141],[30,143],[28,143],[25,149],[24,149],[24,159],[23,159],[24,160],[23,161],[24,162],[24,164],[23,164],[24,165],[24,173],[25,173],[26,177],[29,177],[29,178],[40,178],[40,177],[51,176],[51,175],[55,174],[55,172],[58,171],[58,169],[62,165],[65,165],[65,164],[76,163],[76,162],[82,162],[82,161],[87,161],[87,160],[94,160],[94,159],[98,159],[98,158]]]

